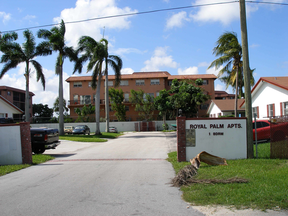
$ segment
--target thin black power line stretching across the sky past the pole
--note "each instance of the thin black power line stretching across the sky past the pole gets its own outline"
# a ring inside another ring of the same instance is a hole
[[[96,19],[106,19],[106,18],[119,17],[119,16],[130,16],[130,15],[137,15],[137,14],[143,14],[143,13],[154,13],[154,12],[165,11],[165,10],[177,10],[177,9],[201,7],[201,6],[208,6],[208,5],[215,5],[215,4],[229,4],[229,3],[235,3],[235,2],[239,2],[239,0],[238,1],[213,3],[213,4],[199,4],[199,5],[193,5],[193,6],[187,6],[187,7],[175,7],[175,8],[170,8],[170,9],[152,10],[152,11],[146,11],[146,12],[129,13],[129,14],[122,14],[122,15],[115,15],[115,16],[105,16],[105,17],[99,17],[99,18],[94,18],[94,19],[85,19],[85,20],[79,20],[79,21],[73,21],[73,22],[65,22],[65,24],[76,23],[76,22],[86,22],[86,21],[91,21],[91,20],[96,20]],[[284,3],[274,3],[274,2],[259,2],[259,1],[245,1],[245,2],[288,5],[288,4],[284,4]],[[35,26],[35,27],[30,27],[30,28],[25,28],[25,29],[16,29],[16,30],[2,32],[2,33],[17,32],[17,31],[26,30],[26,29],[35,29],[35,28],[41,28],[41,27],[47,27],[47,26],[56,26],[56,25],[60,25],[60,23],[50,24],[50,25],[45,25],[45,26]]]

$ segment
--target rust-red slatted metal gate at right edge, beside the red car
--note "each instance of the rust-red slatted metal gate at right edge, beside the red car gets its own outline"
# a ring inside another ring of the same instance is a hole
[[[288,116],[270,118],[270,157],[288,159]]]

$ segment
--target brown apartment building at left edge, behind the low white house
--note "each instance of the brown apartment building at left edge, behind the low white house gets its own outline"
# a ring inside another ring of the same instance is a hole
[[[18,88],[12,88],[9,86],[1,85],[0,86],[0,95],[5,98],[10,103],[14,104],[20,110],[23,111],[23,114],[13,114],[14,121],[22,121],[22,116],[25,113],[25,90],[21,90]],[[35,94],[29,91],[29,114],[30,116],[26,116],[26,122],[30,121],[32,123],[32,97]],[[29,118],[29,119],[28,119]]]

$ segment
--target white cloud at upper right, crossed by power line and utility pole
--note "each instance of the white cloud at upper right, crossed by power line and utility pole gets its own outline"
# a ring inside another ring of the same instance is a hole
[[[193,5],[213,4],[227,2],[223,0],[197,0]],[[246,4],[246,15],[249,16],[251,12],[258,10],[256,4]],[[199,10],[195,14],[190,15],[195,21],[198,22],[221,22],[227,26],[230,22],[239,19],[239,3],[227,3],[227,4],[214,4],[199,7]]]

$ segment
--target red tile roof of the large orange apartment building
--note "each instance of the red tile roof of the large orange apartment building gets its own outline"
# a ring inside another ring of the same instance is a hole
[[[122,74],[121,79],[144,79],[144,78],[160,78],[167,77],[167,79],[217,79],[214,74],[197,74],[197,75],[170,75],[167,71],[156,71],[156,72],[134,72],[132,74]],[[105,76],[102,76],[105,79]],[[115,75],[108,75],[108,79],[115,79]],[[70,76],[65,81],[83,81],[92,80],[92,76]]]

